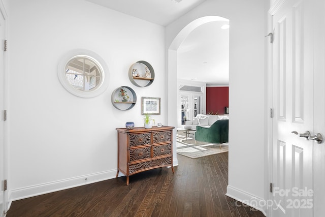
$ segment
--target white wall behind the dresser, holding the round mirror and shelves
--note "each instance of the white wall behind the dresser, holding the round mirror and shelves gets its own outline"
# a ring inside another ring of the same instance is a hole
[[[160,97],[167,124],[165,29],[107,8],[78,0],[10,0],[9,14],[9,190],[11,199],[114,178],[115,128],[134,121],[142,127],[141,97]],[[110,83],[104,94],[79,98],[57,78],[60,58],[88,49],[105,59]],[[148,61],[155,70],[149,87],[128,79],[129,67]],[[137,104],[113,107],[119,86],[133,88]],[[85,180],[87,178],[87,181]]]

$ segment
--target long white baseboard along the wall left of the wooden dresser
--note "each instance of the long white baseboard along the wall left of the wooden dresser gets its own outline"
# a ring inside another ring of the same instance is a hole
[[[115,178],[117,170],[109,170],[100,173],[89,174],[85,176],[73,177],[69,179],[48,182],[44,184],[33,185],[30,187],[11,190],[8,194],[8,205],[11,205],[12,201],[20,200],[28,197],[34,197],[51,192],[56,192],[64,189],[70,189],[85,184],[104,181],[107,179]],[[119,174],[121,176],[121,173]],[[8,206],[10,208],[10,206]]]

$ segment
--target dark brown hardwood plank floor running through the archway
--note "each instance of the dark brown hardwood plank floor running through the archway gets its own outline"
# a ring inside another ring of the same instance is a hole
[[[264,216],[225,196],[228,152],[14,201],[12,216]]]

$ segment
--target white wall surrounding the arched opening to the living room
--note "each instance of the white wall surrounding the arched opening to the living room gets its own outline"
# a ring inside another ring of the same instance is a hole
[[[207,0],[166,28],[166,48],[169,54],[174,54],[184,39],[183,32],[179,33],[188,23],[212,15],[230,20],[227,195],[246,203],[253,197],[256,202],[267,197],[264,193],[266,3],[261,0]],[[169,66],[176,65],[174,56],[169,56],[168,61]],[[169,80],[173,80],[173,76],[176,77],[175,71],[170,67]],[[176,102],[176,96],[170,93],[168,97],[170,105]],[[265,212],[265,207],[250,205]]]

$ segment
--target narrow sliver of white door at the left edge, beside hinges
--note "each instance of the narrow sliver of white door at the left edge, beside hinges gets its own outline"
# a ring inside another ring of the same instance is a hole
[[[5,40],[5,20],[0,11],[0,216],[3,216],[6,208],[6,195],[4,192],[3,181],[5,179],[5,122],[3,118],[4,111],[4,40]]]

